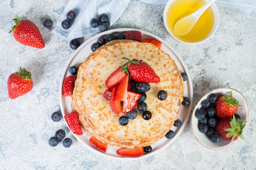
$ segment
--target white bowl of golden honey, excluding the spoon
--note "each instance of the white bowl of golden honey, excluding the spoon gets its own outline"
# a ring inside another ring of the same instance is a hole
[[[164,26],[168,33],[184,44],[200,44],[207,41],[216,32],[219,25],[219,11],[213,3],[200,16],[191,31],[186,35],[175,34],[173,27],[177,21],[202,7],[208,0],[169,0],[164,8]]]

